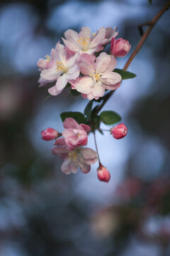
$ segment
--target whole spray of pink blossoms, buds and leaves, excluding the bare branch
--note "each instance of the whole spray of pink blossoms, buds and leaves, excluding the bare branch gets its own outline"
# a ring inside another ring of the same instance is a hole
[[[100,181],[110,181],[111,174],[101,164],[96,144],[96,130],[103,134],[101,122],[112,125],[120,122],[119,114],[112,110],[103,111],[103,102],[111,91],[120,87],[123,79],[135,78],[135,74],[115,68],[117,57],[123,57],[130,51],[130,43],[118,38],[117,28],[100,28],[91,33],[90,28],[83,27],[77,33],[68,29],[62,38],[63,44],[57,42],[50,55],[38,60],[40,69],[40,86],[53,82],[48,89],[50,95],[59,95],[64,87],[70,87],[73,95],[81,94],[89,103],[84,114],[81,112],[63,112],[60,114],[64,126],[62,133],[53,128],[41,132],[42,139],[55,139],[52,154],[64,160],[62,171],[64,174],[77,173],[79,168],[84,174],[91,169],[91,164],[99,163],[97,176]],[[106,45],[111,43],[111,54],[104,52]],[[54,84],[55,82],[55,84]],[[106,92],[110,91],[110,92]],[[93,108],[95,102],[101,102]],[[122,139],[128,132],[125,124],[117,124],[106,130],[115,139]],[[88,134],[94,133],[96,151],[84,147],[88,142]],[[62,136],[62,138],[61,138]]]

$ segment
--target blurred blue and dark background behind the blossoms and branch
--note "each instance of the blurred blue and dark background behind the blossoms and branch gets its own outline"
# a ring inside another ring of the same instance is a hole
[[[66,176],[42,129],[62,132],[60,113],[83,112],[87,100],[69,90],[47,96],[36,63],[72,28],[118,26],[134,50],[137,25],[166,3],[153,0],[0,1],[0,255],[170,255],[170,15],[166,11],[104,110],[128,126],[115,140],[97,135],[111,181]],[[130,54],[129,54],[130,55]],[[125,58],[118,58],[123,68]],[[104,127],[103,125],[103,128]],[[89,144],[94,148],[94,138]]]

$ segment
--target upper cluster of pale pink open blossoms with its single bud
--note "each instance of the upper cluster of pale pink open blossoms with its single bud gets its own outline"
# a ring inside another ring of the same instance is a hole
[[[77,33],[68,29],[62,41],[52,48],[51,55],[38,60],[40,68],[40,85],[55,82],[48,92],[59,95],[67,83],[72,90],[80,92],[82,97],[89,100],[103,97],[105,90],[115,90],[120,86],[121,76],[113,72],[117,61],[115,56],[124,56],[130,50],[128,41],[118,36],[116,28],[100,28],[92,33],[88,27],[81,28]],[[103,50],[111,43],[111,53],[95,53]]]

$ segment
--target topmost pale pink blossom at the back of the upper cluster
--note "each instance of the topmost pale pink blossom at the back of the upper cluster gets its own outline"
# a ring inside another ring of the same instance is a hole
[[[88,27],[81,28],[81,31],[77,33],[72,29],[68,29],[64,33],[65,46],[74,53],[80,54],[87,53],[92,54],[103,50],[103,44],[109,43],[111,38],[118,36],[116,28],[100,28],[97,33],[91,35],[91,30]]]

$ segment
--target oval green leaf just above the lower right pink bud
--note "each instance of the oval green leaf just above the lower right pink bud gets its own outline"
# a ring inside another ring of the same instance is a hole
[[[119,122],[121,120],[120,115],[111,110],[101,112],[100,117],[101,117],[101,121],[104,124],[108,124],[108,125],[115,124],[116,122]]]

